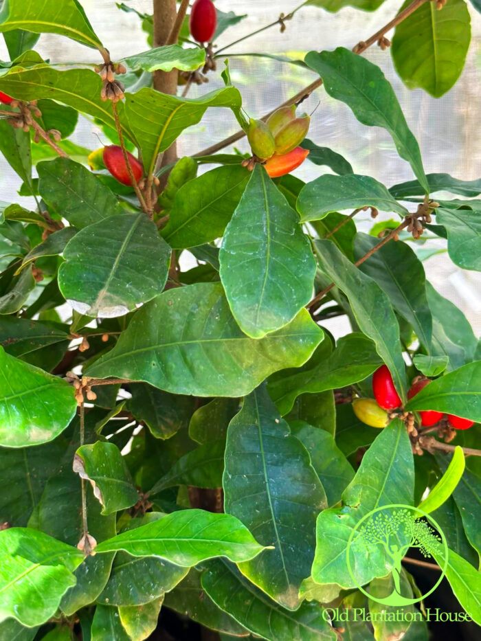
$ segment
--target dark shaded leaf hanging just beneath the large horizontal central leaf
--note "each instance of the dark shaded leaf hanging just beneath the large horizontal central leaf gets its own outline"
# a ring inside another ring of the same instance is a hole
[[[147,425],[155,438],[170,438],[189,425],[195,407],[191,396],[175,396],[152,385],[130,385],[132,398],[128,407],[137,420]]]

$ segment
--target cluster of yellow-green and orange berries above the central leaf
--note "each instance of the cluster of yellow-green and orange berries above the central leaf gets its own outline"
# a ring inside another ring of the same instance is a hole
[[[274,111],[267,122],[251,118],[247,139],[252,153],[262,161],[271,178],[289,174],[309,155],[309,150],[299,145],[309,131],[310,121],[306,113],[295,116],[295,104]],[[246,165],[254,168],[254,164]]]

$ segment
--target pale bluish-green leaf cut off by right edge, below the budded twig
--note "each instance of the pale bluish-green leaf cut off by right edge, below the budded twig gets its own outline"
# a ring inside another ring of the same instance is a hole
[[[466,209],[436,210],[436,222],[447,231],[447,251],[462,269],[481,271],[481,212]]]

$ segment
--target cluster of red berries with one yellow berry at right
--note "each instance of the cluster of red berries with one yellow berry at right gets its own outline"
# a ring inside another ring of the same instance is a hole
[[[416,379],[409,392],[407,392],[407,398],[416,396],[429,383],[431,383],[430,379]],[[387,366],[382,365],[374,372],[374,376],[372,376],[372,393],[376,399],[375,401],[374,398],[355,398],[353,401],[354,413],[366,425],[385,427],[389,423],[389,416],[386,410],[398,409],[403,405]],[[435,409],[419,412],[423,427],[436,425],[443,418],[443,415],[443,412],[438,412]],[[456,429],[468,429],[473,425],[472,420],[460,418],[460,416],[454,416],[454,414],[447,414],[447,418],[449,423]]]

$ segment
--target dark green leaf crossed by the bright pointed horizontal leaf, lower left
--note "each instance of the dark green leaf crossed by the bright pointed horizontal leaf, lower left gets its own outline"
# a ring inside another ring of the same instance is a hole
[[[142,518],[128,521],[125,530],[139,528],[163,517],[161,513],[148,512]],[[186,567],[169,563],[159,556],[131,556],[117,552],[109,581],[97,601],[119,607],[144,605],[175,587],[187,572]]]

